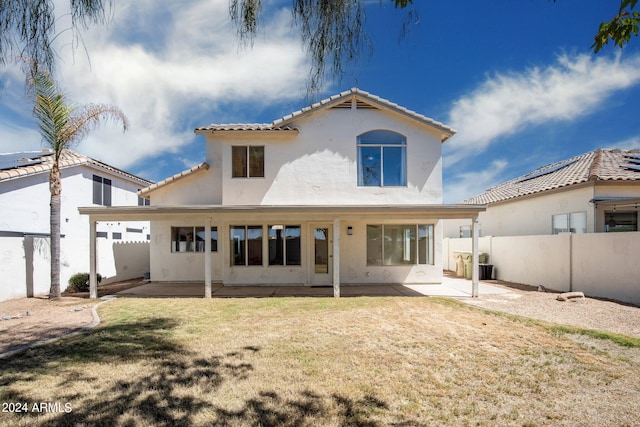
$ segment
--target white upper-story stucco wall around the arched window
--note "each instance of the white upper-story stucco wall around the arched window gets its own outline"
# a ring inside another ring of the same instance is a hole
[[[207,134],[211,168],[206,178],[199,172],[198,179],[224,189],[215,191],[224,205],[442,203],[440,134],[426,125],[380,110],[330,109],[291,126],[300,132]],[[406,187],[357,186],[357,136],[376,129],[407,138]],[[264,145],[264,178],[231,177],[233,145]],[[186,191],[196,196],[196,189]],[[162,197],[159,203],[164,203]],[[157,204],[157,196],[152,200]]]

